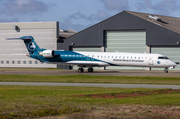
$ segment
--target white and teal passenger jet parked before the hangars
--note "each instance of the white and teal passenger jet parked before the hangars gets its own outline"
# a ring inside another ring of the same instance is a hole
[[[13,39],[24,41],[29,52],[27,56],[42,63],[76,65],[80,67],[79,73],[84,72],[85,67],[88,67],[88,72],[93,72],[93,67],[105,66],[165,68],[164,73],[168,73],[168,69],[173,69],[178,64],[161,54],[47,50],[39,48],[32,36],[7,38],[7,40]]]

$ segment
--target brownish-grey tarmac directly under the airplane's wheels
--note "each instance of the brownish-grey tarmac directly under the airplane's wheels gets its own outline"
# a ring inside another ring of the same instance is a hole
[[[169,70],[95,70],[94,72],[79,73],[77,70],[55,70],[55,69],[28,69],[28,68],[0,68],[0,74],[9,75],[107,75],[107,76],[153,76],[153,77],[180,77],[180,71]]]

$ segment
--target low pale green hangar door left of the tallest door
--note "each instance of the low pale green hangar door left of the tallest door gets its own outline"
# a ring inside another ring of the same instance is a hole
[[[101,52],[101,47],[72,47],[72,51]],[[73,66],[72,68],[78,69],[77,66]],[[100,68],[94,67],[94,69],[100,69]]]

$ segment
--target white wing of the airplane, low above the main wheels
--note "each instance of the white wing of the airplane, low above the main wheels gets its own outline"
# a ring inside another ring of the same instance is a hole
[[[109,66],[108,63],[98,61],[69,61],[69,62],[58,62],[58,64],[76,65],[79,67],[93,67],[93,66]]]

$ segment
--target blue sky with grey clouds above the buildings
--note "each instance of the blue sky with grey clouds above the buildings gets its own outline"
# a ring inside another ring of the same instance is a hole
[[[81,31],[123,10],[180,18],[179,0],[0,0],[0,22],[58,21]]]

